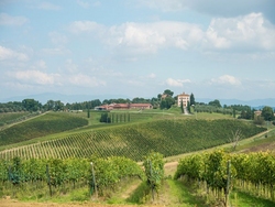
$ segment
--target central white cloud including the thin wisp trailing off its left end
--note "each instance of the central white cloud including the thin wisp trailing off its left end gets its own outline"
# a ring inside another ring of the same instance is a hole
[[[128,22],[110,28],[92,21],[75,21],[69,25],[69,31],[76,34],[94,34],[111,47],[145,54],[169,46],[194,48],[204,37],[198,25],[172,21]]]

